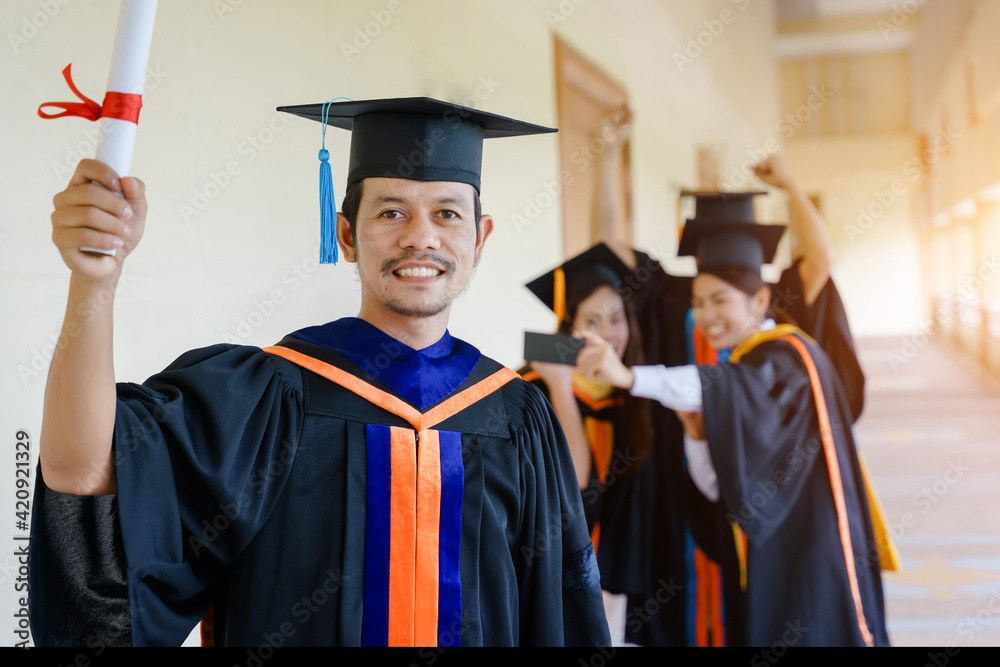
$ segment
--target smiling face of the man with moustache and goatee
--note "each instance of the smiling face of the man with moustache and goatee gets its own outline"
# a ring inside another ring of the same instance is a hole
[[[337,229],[344,258],[358,264],[362,308],[447,317],[493,230],[484,215],[477,238],[474,197],[466,183],[365,179],[355,233],[343,215]]]

